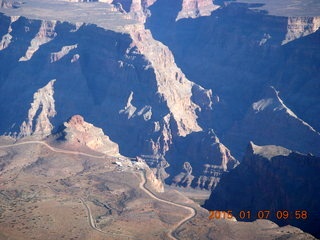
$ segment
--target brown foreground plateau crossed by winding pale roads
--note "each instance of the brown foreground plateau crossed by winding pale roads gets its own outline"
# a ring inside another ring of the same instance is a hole
[[[69,124],[83,126],[79,120],[74,116]],[[47,145],[27,137],[0,137],[1,239],[160,240],[186,218],[185,207],[194,208],[197,215],[177,231],[179,239],[226,239],[234,232],[252,240],[314,239],[266,220],[208,221],[206,210],[177,191],[156,193],[159,185],[143,160],[101,155],[84,147],[79,151],[51,140]],[[143,169],[146,186],[141,185]]]

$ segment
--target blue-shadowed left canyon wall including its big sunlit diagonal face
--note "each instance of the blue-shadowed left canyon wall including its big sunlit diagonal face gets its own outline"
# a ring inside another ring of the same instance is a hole
[[[19,96],[2,95],[1,109],[9,113],[0,123],[3,132],[41,138],[55,131],[64,119],[81,113],[90,122],[102,126],[119,144],[122,154],[147,156],[157,176],[164,180],[168,176],[165,168],[179,154],[168,153],[172,151],[173,142],[202,131],[199,116],[210,112],[218,98],[211,89],[189,80],[176,65],[170,49],[145,29],[144,22],[149,16],[147,8],[153,3],[133,1],[128,12],[113,10],[118,15],[110,10],[108,14],[118,18],[119,23],[125,19],[135,22],[117,25],[121,31],[125,29],[127,34],[82,24],[81,20],[86,19],[81,15],[78,21],[71,23],[24,17],[13,21],[2,16],[7,25],[3,25],[1,33],[6,36],[8,29],[11,29],[10,34],[16,40],[6,44],[7,47],[0,54],[1,61],[10,62],[8,68],[1,72],[1,91],[15,92]],[[66,7],[70,4],[66,4]],[[119,4],[125,5],[120,1]],[[81,8],[84,5],[76,6]],[[86,6],[89,11],[90,6],[94,8],[100,5]],[[30,5],[21,8],[27,15],[31,14]],[[19,9],[13,9],[10,13],[17,13]],[[48,16],[50,14],[48,12]],[[65,17],[68,19],[68,16]],[[95,18],[92,21],[108,28],[96,22]],[[111,29],[114,30],[115,26]],[[48,78],[56,79],[54,95],[51,92],[52,96],[49,97],[43,93],[43,100],[34,97],[30,110],[26,109],[28,105],[21,107],[21,102],[32,102],[30,98],[46,85]],[[51,103],[47,104],[49,100]],[[13,109],[20,107],[21,111],[14,113]],[[53,109],[56,114],[53,114]],[[28,111],[30,114],[26,117]],[[41,120],[37,120],[38,115]],[[196,154],[193,154],[186,156],[185,161],[197,169],[196,158]],[[216,158],[224,161],[223,153]],[[177,169],[171,167],[172,177],[180,174],[184,161],[177,164]],[[203,157],[201,164],[221,165],[222,162],[217,163],[212,156],[207,156]],[[202,169],[205,171],[205,168]],[[193,185],[205,188],[214,186],[210,171],[203,174],[208,180],[205,178]],[[218,181],[218,178],[214,178],[215,182]]]

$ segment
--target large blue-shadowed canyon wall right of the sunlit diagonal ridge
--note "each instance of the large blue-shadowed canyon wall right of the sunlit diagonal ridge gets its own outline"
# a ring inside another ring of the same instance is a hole
[[[250,140],[319,154],[318,17],[272,16],[252,10],[255,4],[229,2],[210,16],[175,21],[179,6],[171,8],[172,4],[153,4],[146,26],[171,49],[188,78],[218,96],[212,111],[198,114],[201,128],[213,128],[238,159]],[[270,111],[272,116],[254,113],[252,104],[264,99],[268,86],[281,93],[297,118],[284,110]],[[251,117],[261,117],[264,123],[248,122],[250,109]]]

